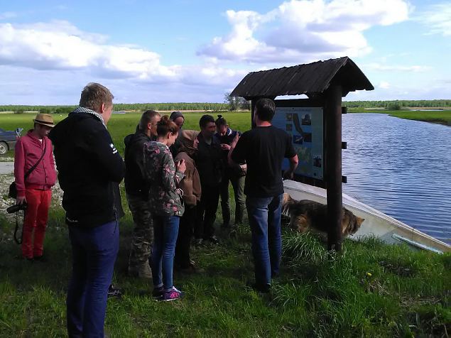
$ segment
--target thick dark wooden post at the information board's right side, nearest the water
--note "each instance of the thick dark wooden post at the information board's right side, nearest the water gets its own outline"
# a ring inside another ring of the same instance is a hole
[[[325,93],[327,163],[327,247],[342,249],[342,87],[332,85]]]

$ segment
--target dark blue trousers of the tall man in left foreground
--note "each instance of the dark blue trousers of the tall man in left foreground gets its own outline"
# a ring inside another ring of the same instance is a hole
[[[69,337],[104,337],[107,292],[119,251],[119,223],[69,227],[72,278],[67,290]]]

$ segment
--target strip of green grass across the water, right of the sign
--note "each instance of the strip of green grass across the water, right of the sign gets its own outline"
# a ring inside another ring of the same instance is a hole
[[[409,119],[415,121],[432,122],[436,124],[445,124],[451,126],[451,109],[443,111],[390,111],[385,109],[362,109],[351,108],[349,112],[355,113],[380,113],[388,114],[390,116],[399,117],[400,119]]]

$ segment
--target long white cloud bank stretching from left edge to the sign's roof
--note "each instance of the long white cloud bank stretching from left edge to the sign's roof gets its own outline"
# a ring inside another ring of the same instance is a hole
[[[0,65],[36,70],[75,70],[107,79],[220,84],[246,72],[212,63],[165,66],[161,56],[133,45],[109,45],[108,37],[80,31],[67,21],[0,23]]]

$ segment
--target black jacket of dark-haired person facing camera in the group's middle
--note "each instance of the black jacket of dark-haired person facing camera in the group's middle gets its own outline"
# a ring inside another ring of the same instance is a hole
[[[199,144],[193,158],[199,172],[200,184],[202,189],[205,186],[215,187],[221,183],[224,171],[221,144],[216,136],[213,136],[211,144],[206,143],[202,133],[199,133],[197,139]]]

